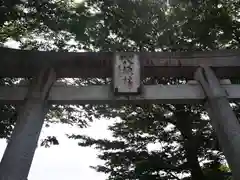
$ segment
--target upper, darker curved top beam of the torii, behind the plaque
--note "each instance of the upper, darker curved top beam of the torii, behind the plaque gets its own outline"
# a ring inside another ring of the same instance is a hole
[[[200,65],[211,66],[220,78],[240,77],[240,50],[137,53],[143,76],[192,78]],[[57,77],[112,77],[114,53],[40,52],[0,48],[0,77],[33,77],[53,67]]]

